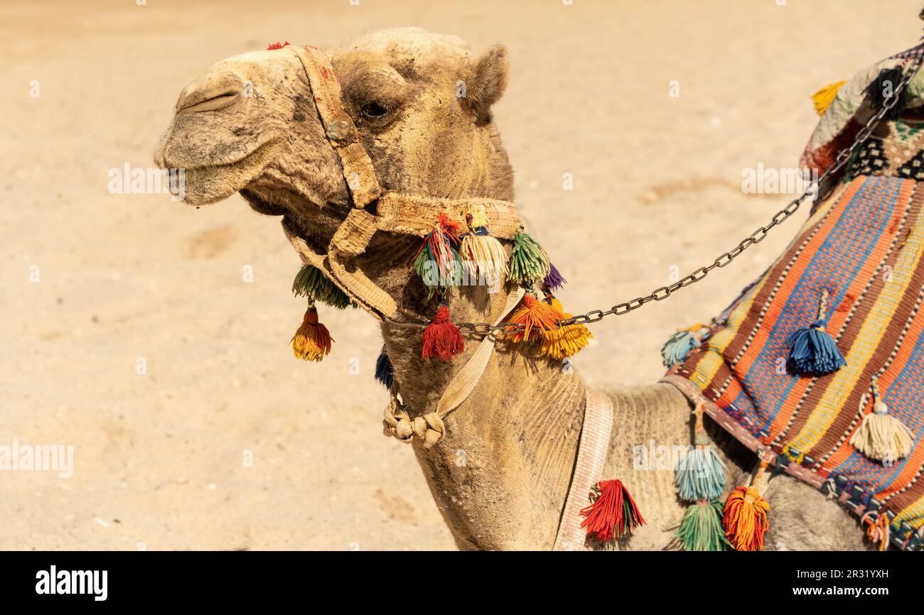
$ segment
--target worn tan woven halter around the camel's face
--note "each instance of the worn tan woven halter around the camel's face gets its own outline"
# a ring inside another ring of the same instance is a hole
[[[359,130],[343,108],[340,81],[330,57],[318,47],[290,45],[285,49],[296,54],[305,68],[324,134],[340,158],[346,188],[353,201],[353,208],[337,228],[326,253],[315,251],[298,236],[298,230],[291,223],[283,220],[286,237],[305,264],[323,271],[376,320],[396,323],[407,313],[398,308],[395,299],[373,283],[356,262],[356,257],[366,251],[377,231],[423,237],[432,232],[441,213],[464,228],[468,209],[481,206],[493,236],[513,239],[517,235],[520,226],[517,208],[509,201],[477,197],[440,199],[383,189]]]

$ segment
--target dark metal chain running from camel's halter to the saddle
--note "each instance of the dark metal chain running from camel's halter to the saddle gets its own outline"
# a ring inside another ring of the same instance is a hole
[[[580,314],[579,316],[573,316],[567,320],[559,320],[556,323],[556,326],[561,328],[571,324],[596,322],[611,314],[622,316],[638,308],[641,308],[651,301],[662,301],[663,299],[673,295],[675,291],[689,286],[690,284],[699,282],[705,278],[713,269],[722,268],[728,263],[732,262],[732,260],[736,259],[738,255],[748,249],[748,247],[751,247],[754,244],[759,244],[774,226],[784,223],[786,219],[796,213],[802,203],[808,199],[808,197],[811,196],[816,190],[818,190],[825,180],[827,180],[829,177],[844,167],[847,161],[853,157],[854,153],[856,153],[863,142],[869,138],[873,130],[876,129],[882,118],[885,117],[885,115],[887,115],[889,111],[891,111],[892,108],[898,103],[902,91],[905,90],[911,79],[918,74],[918,69],[922,63],[924,63],[924,54],[918,55],[918,57],[916,57],[915,60],[911,63],[910,70],[906,71],[906,74],[898,84],[898,87],[893,91],[893,95],[890,97],[889,102],[884,104],[879,112],[872,115],[867,123],[859,129],[857,132],[857,137],[854,139],[854,142],[850,145],[850,147],[838,152],[837,158],[834,159],[834,163],[828,167],[824,173],[821,174],[821,176],[818,178],[818,181],[815,182],[812,186],[809,186],[801,196],[791,201],[782,210],[777,211],[773,215],[770,223],[767,223],[765,226],[760,226],[760,228],[738,243],[736,247],[733,247],[727,252],[719,255],[719,257],[713,260],[711,264],[700,267],[698,270],[688,273],[686,276],[680,278],[680,280],[676,281],[675,283],[657,288],[651,291],[649,295],[638,296],[624,303],[617,303],[609,309],[593,309],[590,310],[590,312]],[[419,329],[425,328],[428,324],[419,322],[399,322],[391,319],[388,319],[388,321],[390,324]],[[508,333],[517,332],[523,328],[522,324],[516,322],[501,322],[496,325],[492,325],[490,322],[460,322],[456,326],[459,328],[459,331],[481,335],[488,335],[492,332],[502,331]]]

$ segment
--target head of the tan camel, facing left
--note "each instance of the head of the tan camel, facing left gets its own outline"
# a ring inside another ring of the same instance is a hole
[[[512,199],[491,115],[506,85],[504,47],[475,58],[454,36],[400,29],[324,51],[384,188]],[[180,92],[154,158],[185,169],[192,205],[239,191],[256,211],[328,230],[350,206],[295,45],[210,66]]]

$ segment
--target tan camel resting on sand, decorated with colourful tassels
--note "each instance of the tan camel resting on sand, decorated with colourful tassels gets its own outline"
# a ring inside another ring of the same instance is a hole
[[[342,104],[383,187],[461,199],[514,200],[513,170],[492,116],[508,79],[505,47],[475,56],[455,36],[378,30],[325,49]],[[459,84],[465,96],[457,95]],[[250,95],[248,95],[250,94]],[[253,210],[284,216],[298,235],[327,246],[350,209],[343,168],[318,118],[298,57],[274,49],[209,67],[179,95],[155,152],[163,168],[186,169],[186,202],[235,192]],[[402,308],[432,314],[435,299],[407,266],[419,238],[377,233],[359,257],[363,271]],[[505,247],[509,250],[509,246]],[[504,315],[504,285],[460,287],[454,319]],[[384,344],[411,416],[432,412],[476,344],[453,362],[421,359],[419,330],[384,322]],[[586,385],[560,361],[498,346],[477,387],[445,418],[444,440],[413,444],[432,496],[459,549],[550,549],[575,464]],[[635,469],[633,447],[690,441],[691,405],[674,386],[616,387],[614,428],[603,476],[630,485],[647,525],[615,549],[672,549],[683,505],[672,472]],[[707,418],[728,467],[728,486],[747,484],[753,453]],[[458,464],[459,452],[466,463]],[[726,488],[727,490],[727,488]],[[774,476],[767,549],[869,549],[857,520],[792,476]]]

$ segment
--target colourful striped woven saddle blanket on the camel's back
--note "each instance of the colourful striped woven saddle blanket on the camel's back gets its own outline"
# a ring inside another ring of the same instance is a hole
[[[864,88],[883,67],[904,66],[922,50],[847,82],[822,115],[803,163],[823,172],[869,114]],[[870,136],[783,255],[711,324],[699,326],[689,353],[664,379],[703,402],[772,467],[865,521],[872,515],[885,522],[889,541],[910,550],[924,549],[922,86],[918,74],[906,113]],[[831,336],[843,361],[837,357],[816,373],[794,371],[793,336],[813,327]],[[896,421],[901,454],[870,454],[857,444],[874,411]]]

